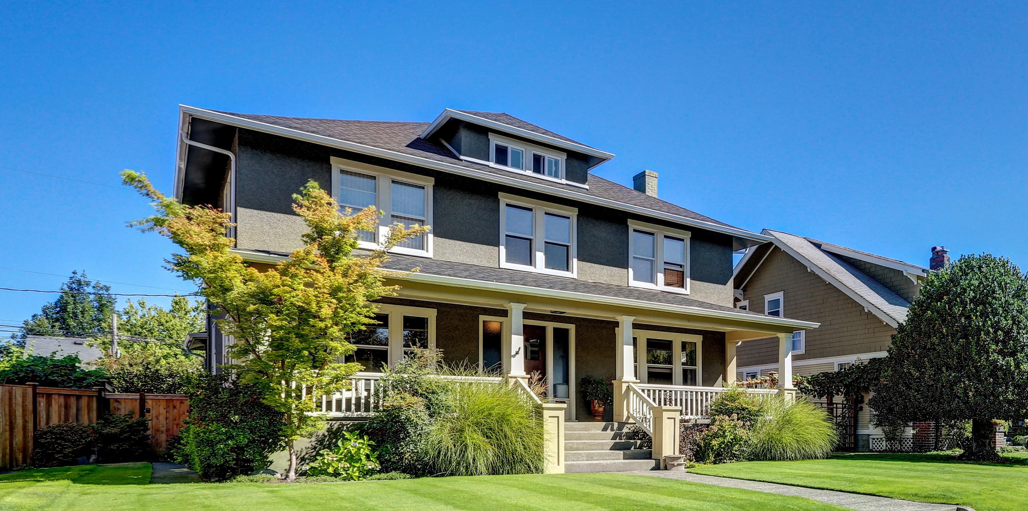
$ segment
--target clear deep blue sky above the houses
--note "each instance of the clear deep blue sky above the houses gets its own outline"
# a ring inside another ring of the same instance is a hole
[[[656,171],[662,198],[733,225],[1028,266],[1028,9],[900,3],[4,2],[0,167],[110,186],[135,169],[169,190],[180,103],[505,111],[617,154],[598,175]],[[141,197],[0,180],[0,287],[82,269],[115,292],[189,290],[161,268],[168,242],[125,227]],[[0,291],[0,321],[51,298]]]

